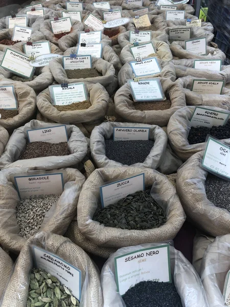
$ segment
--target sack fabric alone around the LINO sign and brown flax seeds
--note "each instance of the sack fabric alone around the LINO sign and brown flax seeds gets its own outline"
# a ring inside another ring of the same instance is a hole
[[[0,158],[0,169],[9,167],[29,167],[49,170],[60,167],[68,167],[80,163],[86,156],[88,145],[83,133],[74,125],[66,125],[68,148],[71,152],[70,155],[18,160],[26,148],[26,143],[28,141],[27,130],[58,125],[59,124],[31,120],[25,126],[14,130],[9,142],[7,143],[4,153]]]

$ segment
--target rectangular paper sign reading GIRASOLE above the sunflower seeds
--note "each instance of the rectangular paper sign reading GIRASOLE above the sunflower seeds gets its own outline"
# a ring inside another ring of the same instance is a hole
[[[60,195],[64,188],[62,173],[14,176],[14,181],[20,199]]]

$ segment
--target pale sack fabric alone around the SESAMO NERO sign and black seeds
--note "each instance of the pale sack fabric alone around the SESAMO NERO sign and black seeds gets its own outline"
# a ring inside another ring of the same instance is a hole
[[[119,292],[117,292],[117,284],[114,277],[114,258],[124,254],[132,253],[136,250],[165,245],[167,243],[169,242],[124,247],[109,257],[101,272],[101,286],[104,298],[104,307],[126,307],[124,300],[122,299]],[[183,254],[176,250],[173,246],[170,246],[170,264],[172,280],[180,296],[182,305],[188,307],[208,307],[205,291],[202,287],[202,283],[198,274],[190,264],[189,260],[187,260],[186,257],[183,256]],[[135,280],[134,283],[136,283]]]

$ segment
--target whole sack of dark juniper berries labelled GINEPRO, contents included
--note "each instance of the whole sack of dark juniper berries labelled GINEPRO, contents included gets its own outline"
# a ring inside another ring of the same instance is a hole
[[[203,150],[207,134],[211,134],[214,137],[218,137],[214,131],[216,127],[213,130],[211,128],[206,127],[193,127],[191,129],[190,120],[193,116],[195,108],[196,106],[185,106],[183,108],[180,108],[170,117],[169,123],[167,125],[167,135],[169,138],[169,143],[176,155],[182,161],[188,160],[192,155],[194,155],[194,153]],[[228,110],[227,105],[224,108],[202,105],[202,108],[223,112],[226,112],[226,109]],[[228,135],[228,123],[224,127],[225,128],[223,130],[223,133],[221,133],[221,136],[223,136],[224,141],[226,141],[230,137],[230,135]],[[201,132],[202,134],[200,134]],[[198,138],[198,136],[200,137]]]

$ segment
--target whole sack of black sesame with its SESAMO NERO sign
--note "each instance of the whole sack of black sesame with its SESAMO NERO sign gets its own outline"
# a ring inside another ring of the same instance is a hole
[[[101,272],[104,307],[208,307],[198,274],[172,245],[141,244],[113,253]]]

